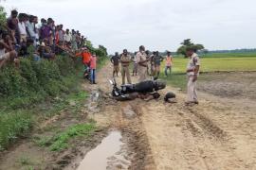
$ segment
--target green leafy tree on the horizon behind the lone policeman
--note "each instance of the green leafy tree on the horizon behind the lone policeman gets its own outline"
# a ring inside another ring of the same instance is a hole
[[[195,44],[191,41],[191,39],[186,39],[183,42],[181,42],[180,44],[182,44],[182,45],[177,49],[177,54],[181,54],[184,57],[187,57],[186,50],[188,47],[192,47],[195,51],[205,49],[203,44],[200,44],[200,43]]]

